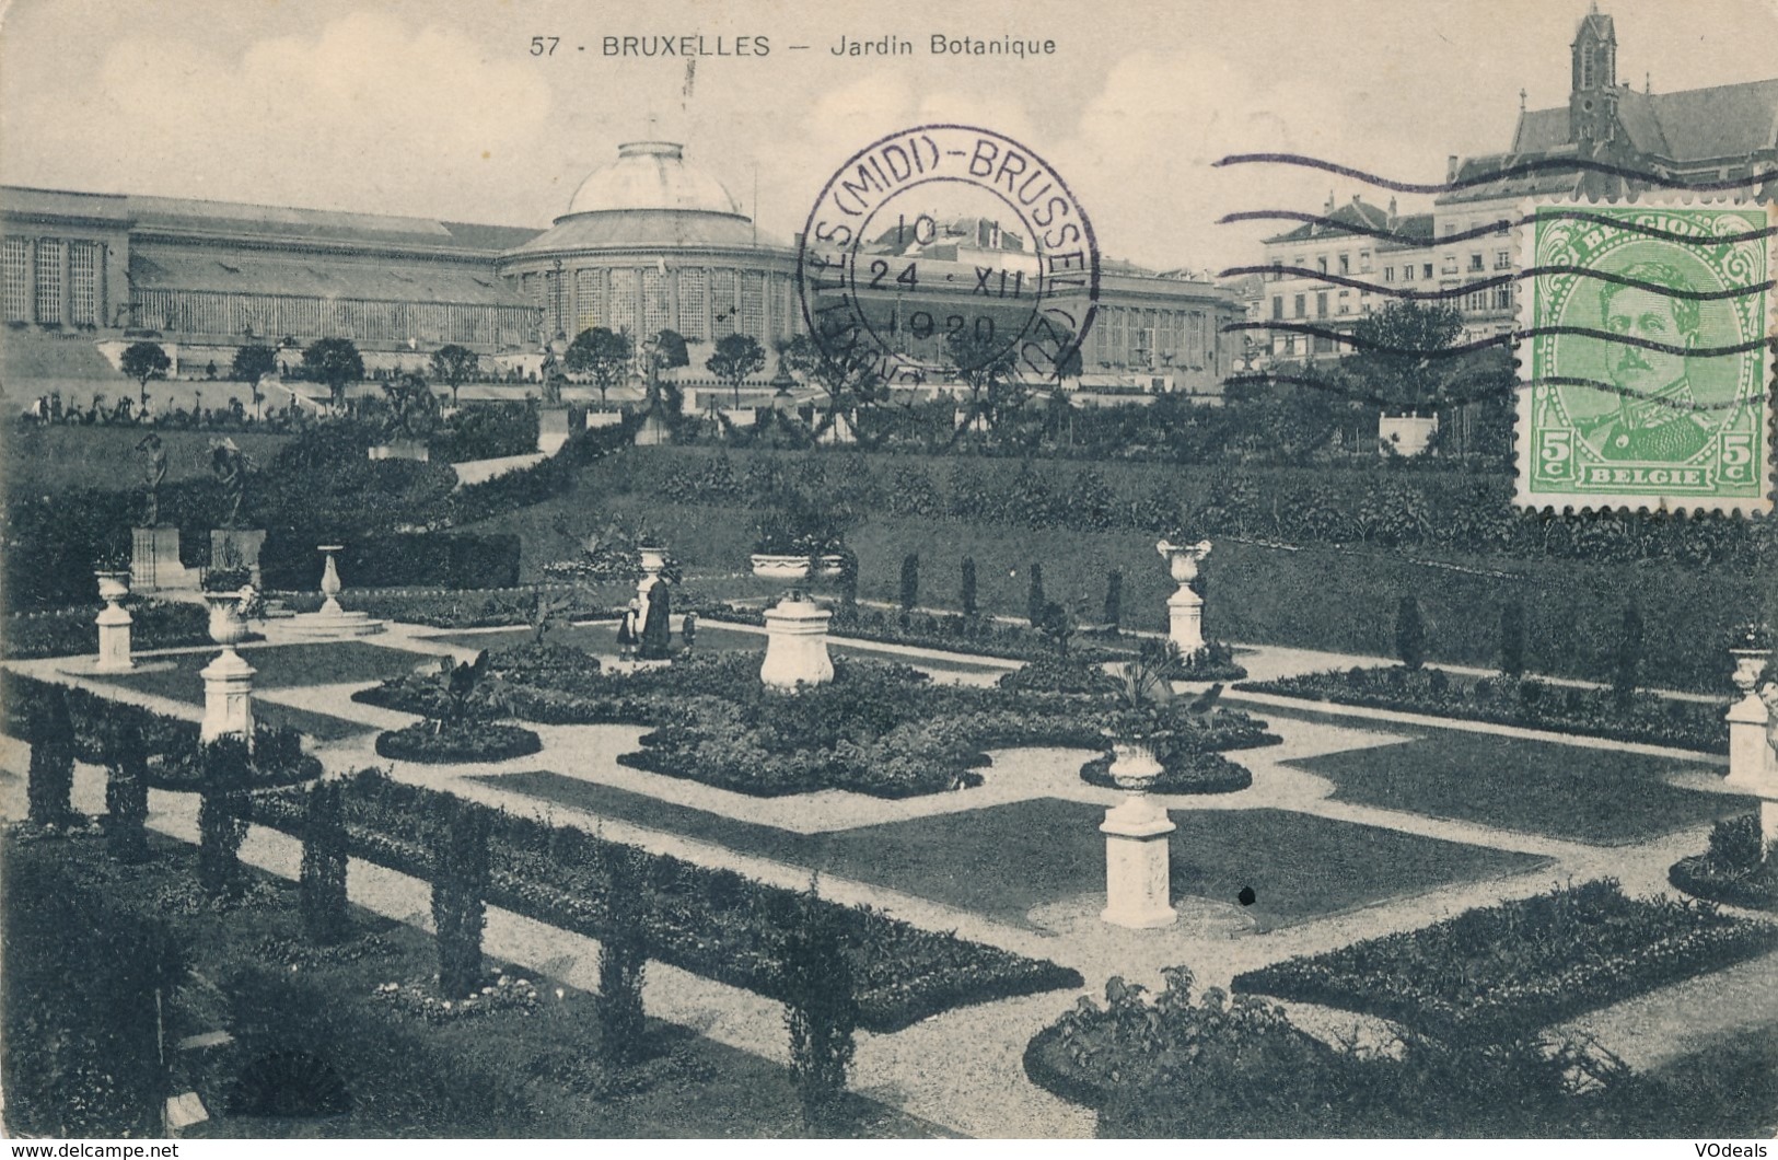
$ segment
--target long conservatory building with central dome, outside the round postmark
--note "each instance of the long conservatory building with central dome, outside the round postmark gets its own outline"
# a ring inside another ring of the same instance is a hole
[[[1006,254],[1012,235],[978,228],[951,238],[953,262]],[[316,338],[350,338],[373,372],[425,368],[446,343],[489,370],[535,368],[542,343],[605,326],[677,331],[692,356],[679,377],[697,381],[725,334],[770,354],[805,329],[793,246],[661,141],[621,146],[546,230],[5,187],[0,235],[4,345],[30,354],[5,359],[9,379],[55,363],[91,374],[94,350],[114,367],[139,338],[160,342],[176,375],[228,367],[249,343],[293,367]],[[942,290],[923,294],[928,313],[944,308]],[[1237,315],[1204,279],[1106,262],[1083,379],[1214,395],[1239,345],[1221,326]],[[761,381],[773,372],[768,358]]]

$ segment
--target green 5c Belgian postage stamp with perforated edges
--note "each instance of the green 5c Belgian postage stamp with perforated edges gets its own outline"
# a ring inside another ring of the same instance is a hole
[[[1769,511],[1774,299],[1762,285],[1778,238],[1758,233],[1778,212],[1550,203],[1534,213],[1520,238],[1520,269],[1540,272],[1520,313],[1518,503]]]

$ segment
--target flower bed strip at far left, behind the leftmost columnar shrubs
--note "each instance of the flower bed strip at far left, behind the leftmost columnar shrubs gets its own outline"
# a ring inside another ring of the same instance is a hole
[[[0,705],[5,706],[5,733],[28,738],[32,722],[41,719],[44,699],[55,687],[48,681],[0,673]],[[62,687],[68,717],[75,726],[75,756],[92,765],[112,765],[121,758],[128,733],[140,738],[148,758],[148,783],[156,790],[197,790],[199,728],[196,721],[169,717],[140,705],[112,701],[85,689]],[[251,786],[281,786],[313,781],[322,763],[302,753],[302,733],[281,726],[258,724],[252,742]]]

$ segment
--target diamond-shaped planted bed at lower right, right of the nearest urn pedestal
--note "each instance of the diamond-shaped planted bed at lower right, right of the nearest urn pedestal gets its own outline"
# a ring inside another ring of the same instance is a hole
[[[1435,1035],[1526,1034],[1778,948],[1778,927],[1613,879],[1502,902],[1234,979]]]

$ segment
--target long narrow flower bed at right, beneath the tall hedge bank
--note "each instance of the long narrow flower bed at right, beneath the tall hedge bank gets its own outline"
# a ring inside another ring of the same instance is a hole
[[[1250,681],[1241,689],[1705,753],[1728,749],[1728,724],[1719,705],[1646,692],[1618,705],[1607,689],[1559,687],[1536,678],[1472,678],[1444,669],[1389,665],[1305,673],[1282,681]]]

